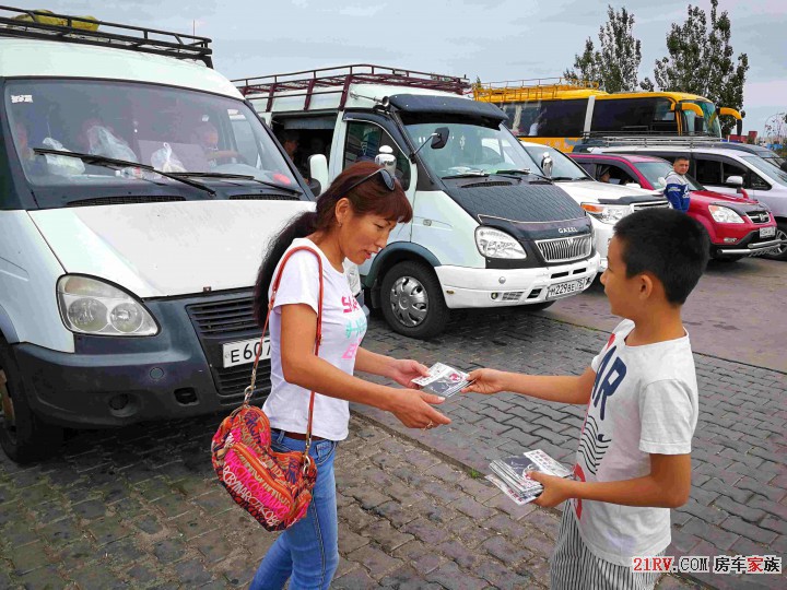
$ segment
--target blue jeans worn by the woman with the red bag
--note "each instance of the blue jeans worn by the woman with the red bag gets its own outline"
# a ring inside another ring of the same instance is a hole
[[[305,440],[272,430],[271,447],[283,452],[304,450]],[[339,522],[336,506],[333,457],[337,442],[315,440],[309,456],[317,463],[317,483],[306,516],[282,532],[255,574],[249,590],[327,589],[339,566]]]

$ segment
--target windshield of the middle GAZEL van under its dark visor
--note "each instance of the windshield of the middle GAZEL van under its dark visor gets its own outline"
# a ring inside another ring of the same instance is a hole
[[[491,127],[471,119],[436,119],[435,117],[435,120],[428,122],[411,122],[406,127],[415,148],[426,142],[419,155],[441,178],[494,174],[501,170],[530,170],[541,174],[541,168],[502,123]],[[427,140],[431,133],[441,128],[447,129],[448,141],[445,146],[435,150]]]

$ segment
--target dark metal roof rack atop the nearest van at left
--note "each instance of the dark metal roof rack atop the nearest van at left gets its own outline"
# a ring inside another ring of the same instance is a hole
[[[44,22],[42,22],[44,21]],[[52,21],[58,24],[50,24]],[[111,32],[97,28],[110,28]],[[60,40],[193,59],[213,68],[211,39],[167,31],[0,5],[0,37]]]

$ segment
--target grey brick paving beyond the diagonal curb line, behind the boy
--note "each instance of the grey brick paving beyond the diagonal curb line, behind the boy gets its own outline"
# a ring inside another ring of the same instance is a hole
[[[607,342],[602,331],[510,309],[468,312],[439,339],[419,342],[373,319],[364,346],[430,365],[471,370],[491,366],[532,374],[580,374]],[[672,511],[667,555],[787,557],[787,377],[695,355],[700,420],[694,438],[690,502]],[[491,459],[542,448],[574,462],[584,406],[530,401],[522,396],[457,396],[443,406],[449,427],[406,432],[374,409],[356,411],[418,444],[486,473]],[[717,588],[785,588],[785,577],[696,575]],[[761,586],[756,586],[761,585]]]

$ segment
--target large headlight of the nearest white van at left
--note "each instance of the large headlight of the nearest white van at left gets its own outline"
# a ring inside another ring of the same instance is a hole
[[[158,326],[141,302],[87,276],[61,276],[58,307],[66,328],[82,334],[155,335]]]

